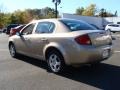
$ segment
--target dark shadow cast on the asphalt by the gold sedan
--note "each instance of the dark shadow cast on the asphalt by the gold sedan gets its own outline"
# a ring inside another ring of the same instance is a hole
[[[18,60],[47,70],[47,63],[22,56]],[[101,63],[96,67],[67,67],[64,73],[57,74],[77,82],[82,82],[99,89],[120,90],[120,66]]]

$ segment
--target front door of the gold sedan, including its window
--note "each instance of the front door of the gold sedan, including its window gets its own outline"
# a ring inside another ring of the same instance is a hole
[[[32,32],[34,29],[35,24],[29,24],[27,25],[22,31],[21,31],[21,35],[17,36],[16,38],[16,46],[17,46],[17,50],[20,53],[23,54],[30,54],[30,49],[32,47],[30,38],[32,36]]]

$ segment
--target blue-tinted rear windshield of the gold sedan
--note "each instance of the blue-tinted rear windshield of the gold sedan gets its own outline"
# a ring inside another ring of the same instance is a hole
[[[96,30],[95,27],[77,20],[60,20],[64,25],[66,25],[71,31],[79,30]]]

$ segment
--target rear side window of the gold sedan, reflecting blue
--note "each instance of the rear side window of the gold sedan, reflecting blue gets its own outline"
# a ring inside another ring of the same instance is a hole
[[[52,22],[39,22],[35,33],[52,33],[55,28]]]

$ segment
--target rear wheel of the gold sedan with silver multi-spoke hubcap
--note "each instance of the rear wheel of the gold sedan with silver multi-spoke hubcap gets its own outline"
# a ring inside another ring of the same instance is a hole
[[[64,58],[57,50],[47,53],[47,63],[49,70],[53,73],[61,73],[65,69]]]

